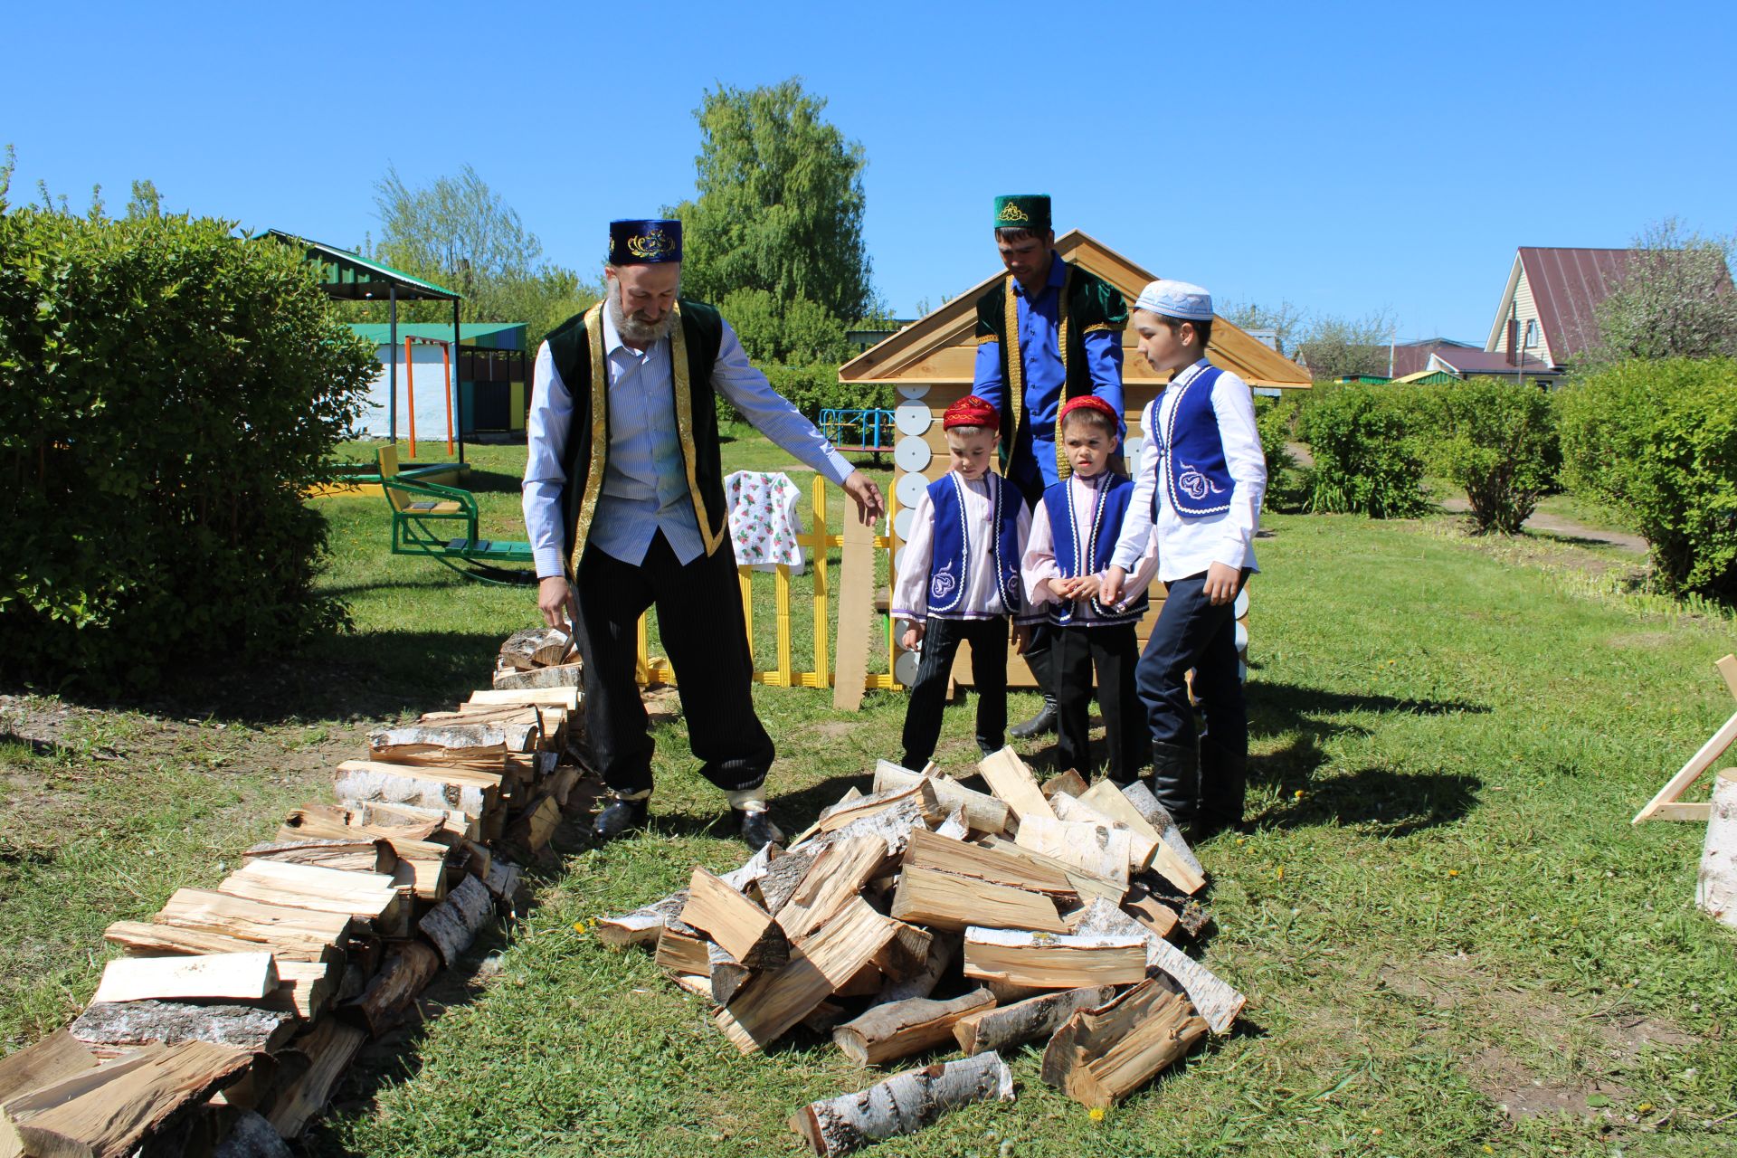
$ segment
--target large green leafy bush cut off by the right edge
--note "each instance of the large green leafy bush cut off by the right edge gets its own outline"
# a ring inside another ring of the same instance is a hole
[[[1617,363],[1556,411],[1563,481],[1626,512],[1659,585],[1737,601],[1737,359]]]

